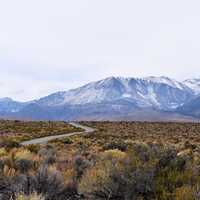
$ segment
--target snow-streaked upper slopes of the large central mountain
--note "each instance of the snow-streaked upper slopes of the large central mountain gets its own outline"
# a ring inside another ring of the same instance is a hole
[[[58,92],[37,101],[48,106],[84,105],[128,100],[138,107],[174,109],[192,98],[185,84],[167,77],[109,77],[67,92]]]

